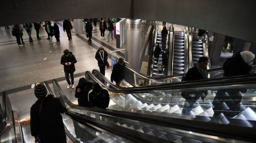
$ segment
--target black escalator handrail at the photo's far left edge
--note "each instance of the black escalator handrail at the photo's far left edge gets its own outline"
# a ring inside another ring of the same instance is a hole
[[[0,136],[2,135],[2,133],[5,131],[6,129],[6,125],[7,125],[7,106],[6,106],[6,92],[3,91],[1,92],[2,94],[2,111],[3,111],[3,115],[2,115],[2,121],[1,121],[1,125],[0,125]]]

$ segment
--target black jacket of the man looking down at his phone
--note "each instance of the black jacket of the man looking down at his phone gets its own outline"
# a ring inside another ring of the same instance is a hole
[[[71,66],[71,70],[72,70],[72,72],[75,72],[76,71],[75,63],[77,61],[76,61],[75,56],[72,54],[72,52],[69,52],[69,56],[68,57],[66,57],[64,54],[61,57],[61,64],[64,66],[64,72],[65,73],[68,72],[68,66],[65,65],[65,63],[67,61],[71,62],[71,65],[70,65]]]

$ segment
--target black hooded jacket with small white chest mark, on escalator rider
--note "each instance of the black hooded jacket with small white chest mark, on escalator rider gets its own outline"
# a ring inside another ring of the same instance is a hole
[[[100,95],[95,94],[95,92],[100,92]],[[99,83],[96,83],[89,92],[89,101],[91,107],[107,108],[109,107],[109,91],[103,89]]]

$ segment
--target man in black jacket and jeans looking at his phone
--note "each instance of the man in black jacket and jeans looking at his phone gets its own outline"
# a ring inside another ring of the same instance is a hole
[[[68,83],[67,89],[70,89],[70,87],[72,87],[73,89],[75,88],[74,72],[76,71],[75,63],[77,61],[75,56],[68,49],[64,50],[63,53],[64,54],[61,57],[61,64],[64,66],[64,73],[65,73],[66,81]],[[71,82],[69,80],[69,75],[71,76]]]

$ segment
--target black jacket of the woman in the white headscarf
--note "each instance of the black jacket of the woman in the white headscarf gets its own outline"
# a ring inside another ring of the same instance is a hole
[[[248,75],[251,71],[251,66],[243,61],[240,52],[238,52],[234,57],[224,62],[223,70],[223,76]]]

